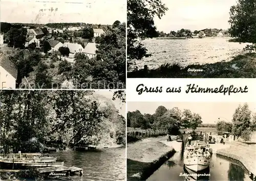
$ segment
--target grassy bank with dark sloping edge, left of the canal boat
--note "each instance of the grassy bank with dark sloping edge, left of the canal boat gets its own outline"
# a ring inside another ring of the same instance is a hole
[[[127,180],[145,180],[173,156],[174,148],[160,142],[165,139],[146,138],[127,144]]]

